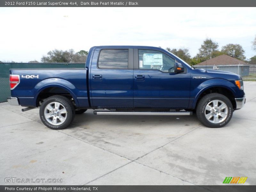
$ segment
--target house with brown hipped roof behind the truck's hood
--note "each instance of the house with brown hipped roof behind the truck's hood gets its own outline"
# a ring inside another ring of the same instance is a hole
[[[207,61],[198,63],[194,65],[195,68],[206,68],[207,69],[216,69],[216,70],[222,70],[222,71],[229,71],[236,73],[241,76],[248,76],[249,75],[249,69],[250,64],[230,57],[228,55],[220,55],[217,57],[214,57],[212,59],[209,59]]]

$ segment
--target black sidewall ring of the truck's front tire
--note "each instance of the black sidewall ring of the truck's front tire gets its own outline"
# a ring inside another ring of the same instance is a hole
[[[201,116],[201,119],[203,121],[202,123],[204,125],[206,125],[207,127],[211,127],[211,128],[223,127],[224,125],[228,124],[228,122],[230,121],[230,119],[233,115],[233,106],[232,106],[232,103],[230,102],[230,100],[224,95],[221,95],[221,94],[219,94],[219,95],[220,96],[214,96],[214,97],[211,97],[210,95],[207,97],[207,95],[206,95],[206,98],[204,98],[204,100],[202,100],[204,104],[203,104],[203,107],[200,110],[199,115]],[[212,100],[221,100],[228,106],[228,116],[226,117],[226,119],[224,121],[222,121],[218,124],[214,124],[214,123],[209,122],[206,119],[205,115],[204,115],[204,110],[205,110],[206,105]]]

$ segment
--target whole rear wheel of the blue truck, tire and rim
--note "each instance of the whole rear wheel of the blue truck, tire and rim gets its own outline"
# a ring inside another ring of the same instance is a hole
[[[39,110],[41,121],[51,129],[65,129],[74,119],[72,102],[61,95],[48,97]]]

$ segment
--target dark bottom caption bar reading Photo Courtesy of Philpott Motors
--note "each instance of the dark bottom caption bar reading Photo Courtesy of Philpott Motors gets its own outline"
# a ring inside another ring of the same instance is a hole
[[[1,192],[255,192],[256,186],[244,185],[1,185]]]

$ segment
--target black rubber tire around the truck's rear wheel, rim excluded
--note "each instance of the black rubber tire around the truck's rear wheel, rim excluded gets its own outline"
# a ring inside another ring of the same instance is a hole
[[[60,125],[53,125],[53,124],[49,123],[44,116],[45,108],[47,107],[48,104],[50,104],[52,102],[58,102],[63,107],[66,108],[67,113],[65,113],[65,116],[67,115],[67,117],[66,117],[65,121]],[[39,114],[40,114],[41,121],[47,127],[54,129],[54,130],[65,129],[66,127],[68,127],[68,125],[73,121],[73,119],[75,117],[75,107],[67,97],[64,97],[61,95],[54,95],[54,96],[48,97],[47,99],[44,100],[44,102],[40,106]]]

